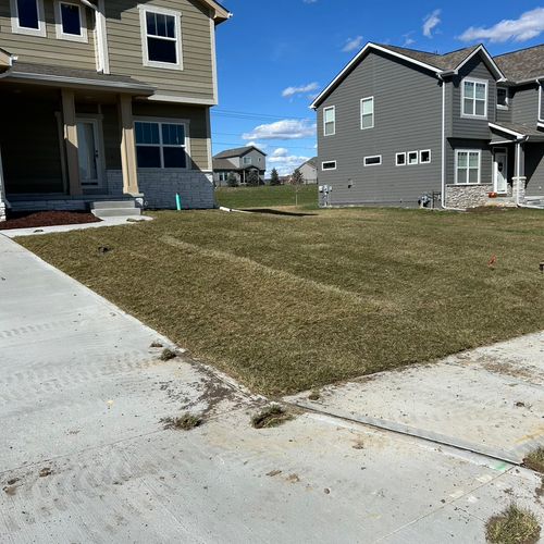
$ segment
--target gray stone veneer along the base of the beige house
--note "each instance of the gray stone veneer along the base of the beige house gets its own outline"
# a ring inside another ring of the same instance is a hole
[[[123,195],[121,170],[108,170],[107,178],[109,194],[112,196]],[[211,172],[138,170],[138,188],[144,194],[147,208],[175,209],[176,194],[182,198],[183,208],[209,209],[215,205]]]

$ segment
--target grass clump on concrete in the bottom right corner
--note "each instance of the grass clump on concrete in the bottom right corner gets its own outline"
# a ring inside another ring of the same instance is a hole
[[[511,504],[485,524],[485,536],[491,544],[536,544],[541,527],[534,514]]]

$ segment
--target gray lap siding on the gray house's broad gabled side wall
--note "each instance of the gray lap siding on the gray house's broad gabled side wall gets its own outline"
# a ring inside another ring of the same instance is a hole
[[[374,97],[374,127],[361,129],[360,100]],[[336,108],[336,134],[323,136],[323,109]],[[318,110],[319,182],[334,205],[417,206],[441,190],[442,87],[401,60],[371,52]],[[431,163],[395,165],[397,152],[431,150]],[[382,156],[382,164],[363,159]],[[323,171],[323,161],[336,170]]]

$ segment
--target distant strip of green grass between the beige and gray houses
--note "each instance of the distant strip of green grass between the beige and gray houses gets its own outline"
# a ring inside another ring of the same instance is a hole
[[[215,200],[225,208],[263,208],[269,206],[295,206],[293,185],[263,185],[261,187],[220,187]],[[298,188],[298,206],[318,208],[318,186],[302,185]]]

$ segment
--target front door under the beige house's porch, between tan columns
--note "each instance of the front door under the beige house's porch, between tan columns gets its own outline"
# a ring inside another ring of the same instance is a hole
[[[96,119],[77,120],[79,178],[84,188],[98,188],[102,185],[99,134],[98,121]]]

